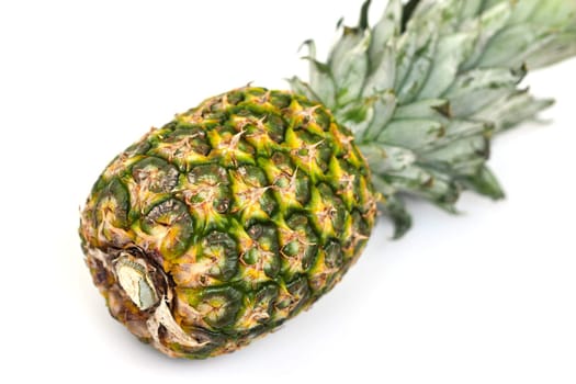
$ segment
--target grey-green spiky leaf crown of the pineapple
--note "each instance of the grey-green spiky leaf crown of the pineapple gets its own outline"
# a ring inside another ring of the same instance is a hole
[[[373,26],[369,8],[326,63],[306,42],[309,81],[289,81],[353,132],[394,237],[411,225],[403,195],[449,212],[464,190],[501,199],[490,139],[552,104],[520,82],[576,54],[576,1],[391,0]]]

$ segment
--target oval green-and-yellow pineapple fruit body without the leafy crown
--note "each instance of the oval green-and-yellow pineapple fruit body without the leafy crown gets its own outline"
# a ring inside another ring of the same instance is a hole
[[[111,315],[170,357],[231,352],[358,259],[377,195],[321,104],[247,87],[179,114],[95,182],[80,237]]]

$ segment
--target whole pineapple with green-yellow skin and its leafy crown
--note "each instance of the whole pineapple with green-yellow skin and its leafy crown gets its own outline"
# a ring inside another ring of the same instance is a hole
[[[464,190],[500,199],[492,137],[550,100],[527,68],[576,53],[568,0],[391,0],[308,81],[247,86],[151,129],[102,172],[80,237],[110,313],[161,352],[202,359],[248,345],[327,293],[376,213],[400,237],[402,196],[454,212]]]

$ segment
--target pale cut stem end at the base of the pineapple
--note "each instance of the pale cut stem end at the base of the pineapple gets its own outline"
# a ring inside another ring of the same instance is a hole
[[[120,285],[139,309],[146,310],[158,303],[156,289],[146,268],[133,257],[121,253],[115,269]]]

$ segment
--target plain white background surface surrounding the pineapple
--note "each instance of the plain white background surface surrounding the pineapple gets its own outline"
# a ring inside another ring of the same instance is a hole
[[[557,98],[552,122],[494,146],[506,201],[465,194],[456,217],[413,202],[404,239],[381,223],[339,286],[280,331],[181,361],[108,315],[77,236],[108,161],[207,97],[305,76],[300,43],[325,50],[360,3],[1,2],[1,382],[576,382],[575,60],[529,77]]]

